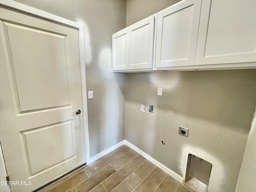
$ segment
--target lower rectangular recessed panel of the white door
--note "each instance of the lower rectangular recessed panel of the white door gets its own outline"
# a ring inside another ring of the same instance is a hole
[[[22,131],[20,137],[30,175],[75,157],[72,121]]]

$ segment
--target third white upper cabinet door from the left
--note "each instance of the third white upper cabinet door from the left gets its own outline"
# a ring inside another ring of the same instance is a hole
[[[156,68],[194,65],[201,0],[183,0],[158,12]]]

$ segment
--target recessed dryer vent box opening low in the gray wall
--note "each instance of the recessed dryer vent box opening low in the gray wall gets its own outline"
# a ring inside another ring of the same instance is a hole
[[[194,192],[208,192],[212,164],[193,154],[188,154],[185,185]]]

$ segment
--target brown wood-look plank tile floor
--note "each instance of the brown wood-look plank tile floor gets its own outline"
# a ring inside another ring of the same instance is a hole
[[[191,192],[126,145],[39,192]]]

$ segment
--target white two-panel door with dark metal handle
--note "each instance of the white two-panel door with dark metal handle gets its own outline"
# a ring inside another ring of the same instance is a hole
[[[78,29],[0,6],[0,92],[6,170],[31,182],[12,192],[85,162]]]

